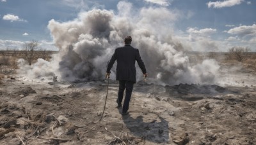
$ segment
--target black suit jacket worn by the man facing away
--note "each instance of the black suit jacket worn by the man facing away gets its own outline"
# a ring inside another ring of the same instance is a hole
[[[141,60],[139,50],[133,48],[131,45],[116,48],[115,53],[108,62],[108,73],[115,63],[115,60],[117,62],[116,80],[136,82],[135,60],[138,62],[143,74],[147,73],[144,62]]]

